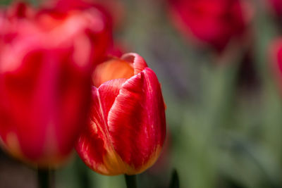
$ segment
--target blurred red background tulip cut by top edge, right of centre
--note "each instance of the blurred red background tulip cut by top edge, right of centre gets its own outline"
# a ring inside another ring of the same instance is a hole
[[[252,14],[240,0],[168,0],[173,23],[185,36],[222,51],[245,32]]]

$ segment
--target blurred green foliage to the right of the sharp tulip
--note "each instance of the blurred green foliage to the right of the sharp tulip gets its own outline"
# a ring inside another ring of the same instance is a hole
[[[180,187],[282,187],[282,103],[268,54],[278,27],[264,1],[254,5],[250,46],[258,81],[241,87],[247,49],[231,47],[216,59],[171,27],[159,1],[131,3],[123,37],[161,81]]]

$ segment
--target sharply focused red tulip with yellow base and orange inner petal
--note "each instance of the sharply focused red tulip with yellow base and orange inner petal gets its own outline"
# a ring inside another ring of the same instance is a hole
[[[137,54],[97,66],[90,122],[76,145],[80,158],[104,175],[142,173],[161,152],[166,134],[157,76]]]

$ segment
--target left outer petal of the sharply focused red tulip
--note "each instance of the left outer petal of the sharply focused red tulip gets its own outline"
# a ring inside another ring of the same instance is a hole
[[[119,166],[122,161],[116,158],[106,118],[125,80],[110,80],[98,89],[93,87],[90,125],[82,131],[76,145],[76,150],[86,165],[106,175],[121,173]]]

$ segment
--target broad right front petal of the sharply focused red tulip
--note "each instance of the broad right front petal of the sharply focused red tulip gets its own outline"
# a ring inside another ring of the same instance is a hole
[[[116,153],[137,174],[157,160],[164,144],[164,99],[157,76],[150,68],[127,80],[108,116],[109,135]]]

